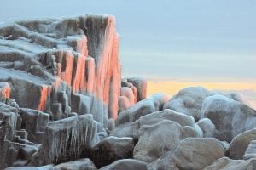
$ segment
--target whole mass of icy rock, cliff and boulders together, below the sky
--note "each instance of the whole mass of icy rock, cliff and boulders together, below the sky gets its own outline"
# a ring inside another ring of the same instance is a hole
[[[113,16],[0,26],[0,169],[256,169],[239,94],[146,92],[121,78]]]

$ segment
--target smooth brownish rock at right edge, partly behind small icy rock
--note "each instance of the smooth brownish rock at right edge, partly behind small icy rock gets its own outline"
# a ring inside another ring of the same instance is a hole
[[[229,149],[226,151],[226,156],[231,159],[242,159],[248,145],[252,140],[256,140],[256,128],[247,130],[244,133],[238,134],[230,143]]]

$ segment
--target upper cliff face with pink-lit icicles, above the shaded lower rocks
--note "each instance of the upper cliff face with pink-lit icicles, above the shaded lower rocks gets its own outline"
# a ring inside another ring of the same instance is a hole
[[[106,126],[119,111],[120,71],[113,16],[0,26],[1,101],[15,99],[20,107],[47,112],[55,120],[72,112],[92,113]]]

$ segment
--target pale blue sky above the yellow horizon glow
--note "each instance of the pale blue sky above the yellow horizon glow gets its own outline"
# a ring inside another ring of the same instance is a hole
[[[256,80],[255,0],[0,0],[0,21],[113,14],[124,76]]]

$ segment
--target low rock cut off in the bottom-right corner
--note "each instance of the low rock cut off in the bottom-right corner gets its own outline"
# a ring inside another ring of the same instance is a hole
[[[222,157],[214,161],[212,165],[204,168],[204,170],[254,170],[256,167],[256,159],[232,160],[228,157]]]

